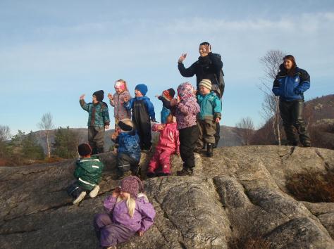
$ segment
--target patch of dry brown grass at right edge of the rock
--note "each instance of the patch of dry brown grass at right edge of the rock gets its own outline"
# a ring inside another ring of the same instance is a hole
[[[310,203],[334,202],[334,173],[304,172],[287,179],[287,189],[297,200]]]

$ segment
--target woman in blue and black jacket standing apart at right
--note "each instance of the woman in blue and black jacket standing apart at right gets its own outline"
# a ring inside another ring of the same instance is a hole
[[[280,72],[273,82],[273,94],[280,96],[280,117],[290,146],[298,145],[297,135],[302,146],[311,146],[307,125],[302,117],[304,91],[307,91],[309,86],[310,78],[307,71],[297,68],[293,56],[285,56],[283,64],[280,65]]]

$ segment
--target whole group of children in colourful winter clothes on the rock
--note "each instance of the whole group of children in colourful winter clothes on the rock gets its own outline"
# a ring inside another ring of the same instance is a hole
[[[190,175],[194,168],[194,151],[207,145],[206,154],[213,155],[216,123],[221,119],[221,101],[211,91],[209,79],[199,83],[199,91],[185,82],[178,87],[176,98],[173,89],[156,96],[163,102],[161,124],[156,123],[154,106],[146,96],[145,84],[135,87],[134,98],[123,79],[116,81],[115,90],[115,94],[108,94],[115,117],[115,132],[111,139],[116,144],[117,172],[122,181],[104,200],[106,213],[94,217],[94,228],[104,248],[127,241],[136,233],[142,236],[153,224],[156,213],[136,176],[141,151],[151,151],[151,130],[160,134],[147,177],[170,175],[173,153],[180,154],[183,160],[183,170],[178,171],[178,175]],[[104,165],[92,154],[104,151],[104,129],[109,129],[110,123],[108,106],[103,102],[104,91],[94,92],[92,103],[85,103],[84,97],[80,96],[80,105],[89,113],[89,143],[78,146],[81,158],[75,167],[76,180],[67,188],[68,194],[74,198],[73,204],[80,203],[87,192],[91,198],[99,192]],[[151,122],[154,122],[152,127]]]

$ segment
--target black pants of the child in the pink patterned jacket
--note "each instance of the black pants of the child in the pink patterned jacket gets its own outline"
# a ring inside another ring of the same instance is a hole
[[[194,147],[199,138],[197,125],[180,129],[180,155],[183,160],[183,167],[192,169],[194,167]]]

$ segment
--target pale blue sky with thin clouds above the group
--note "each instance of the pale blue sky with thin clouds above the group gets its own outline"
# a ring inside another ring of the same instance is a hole
[[[221,125],[251,117],[259,127],[259,58],[271,49],[292,54],[311,75],[306,100],[333,94],[333,27],[331,0],[0,0],[0,125],[11,134],[36,131],[51,113],[55,127],[87,127],[80,95],[90,102],[94,91],[114,93],[117,79],[132,95],[136,84],[147,84],[159,120],[156,94],[196,84],[178,72],[181,53],[189,67],[199,43],[209,41],[225,73]]]

